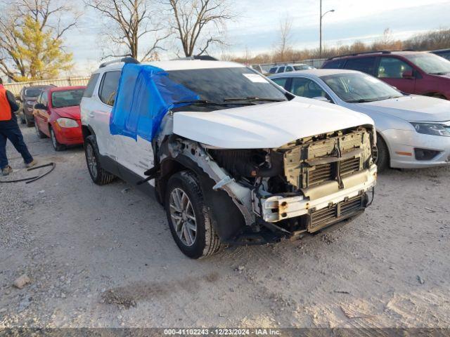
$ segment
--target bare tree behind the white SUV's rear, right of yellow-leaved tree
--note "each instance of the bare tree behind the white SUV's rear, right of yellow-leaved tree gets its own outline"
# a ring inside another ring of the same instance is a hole
[[[158,51],[165,50],[162,41],[170,32],[155,20],[159,15],[150,11],[149,0],[85,0],[85,4],[105,15],[105,35],[113,45],[103,58],[131,56],[141,61],[153,60],[158,58]],[[140,48],[143,40],[150,41],[144,51]]]

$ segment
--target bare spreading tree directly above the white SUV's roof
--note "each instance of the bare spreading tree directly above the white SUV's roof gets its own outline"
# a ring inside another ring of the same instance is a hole
[[[163,0],[163,4],[169,7],[172,29],[187,57],[225,44],[226,21],[235,18],[229,0]]]

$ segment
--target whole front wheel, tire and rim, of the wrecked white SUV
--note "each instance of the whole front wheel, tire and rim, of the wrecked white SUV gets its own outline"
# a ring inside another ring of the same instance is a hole
[[[179,249],[189,258],[205,258],[221,249],[198,179],[191,171],[169,179],[165,209],[170,231]]]

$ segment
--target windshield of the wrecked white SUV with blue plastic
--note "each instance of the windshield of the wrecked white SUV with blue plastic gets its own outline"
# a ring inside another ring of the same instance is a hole
[[[167,73],[169,79],[199,95],[200,100],[215,103],[226,103],[226,100],[236,98],[267,99],[259,103],[287,100],[278,86],[247,67],[172,70]]]

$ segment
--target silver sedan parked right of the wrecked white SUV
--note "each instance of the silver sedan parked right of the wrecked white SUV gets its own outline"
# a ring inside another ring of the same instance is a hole
[[[272,81],[295,95],[328,101],[375,121],[378,170],[450,164],[450,102],[401,93],[354,70],[305,70]]]

